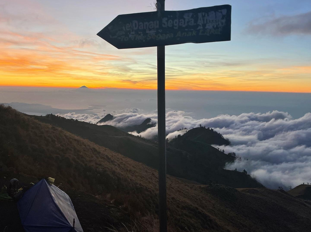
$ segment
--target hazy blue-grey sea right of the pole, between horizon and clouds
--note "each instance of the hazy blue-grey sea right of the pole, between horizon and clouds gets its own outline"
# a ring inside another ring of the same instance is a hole
[[[236,91],[168,91],[167,106],[194,112],[196,118],[220,114],[266,113],[284,111],[294,118],[311,111],[311,94],[236,92]]]

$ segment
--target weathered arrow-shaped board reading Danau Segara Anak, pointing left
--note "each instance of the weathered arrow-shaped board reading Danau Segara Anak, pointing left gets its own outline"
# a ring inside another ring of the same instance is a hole
[[[231,6],[119,15],[97,35],[119,49],[228,41]]]

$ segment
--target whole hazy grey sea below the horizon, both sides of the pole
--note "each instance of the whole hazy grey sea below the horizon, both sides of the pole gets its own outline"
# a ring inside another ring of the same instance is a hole
[[[137,108],[144,113],[157,109],[155,90],[72,89],[42,87],[0,87],[0,102],[23,102],[51,106],[16,105],[24,112],[35,114],[114,113]],[[220,114],[288,112],[300,118],[311,111],[310,93],[238,92],[238,91],[166,91],[166,108],[191,113],[194,118],[211,118]],[[35,110],[36,109],[36,110]],[[60,110],[65,109],[65,111]],[[77,113],[77,112],[76,112]]]

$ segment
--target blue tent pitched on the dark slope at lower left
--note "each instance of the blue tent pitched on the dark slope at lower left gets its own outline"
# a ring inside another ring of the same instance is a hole
[[[26,191],[17,207],[26,232],[83,232],[69,196],[45,179]]]

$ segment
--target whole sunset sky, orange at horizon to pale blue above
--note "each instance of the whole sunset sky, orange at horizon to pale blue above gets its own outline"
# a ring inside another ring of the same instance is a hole
[[[231,41],[166,47],[166,88],[311,92],[310,0],[166,0],[232,5]],[[0,85],[156,89],[156,48],[118,50],[98,33],[154,0],[1,0]]]

